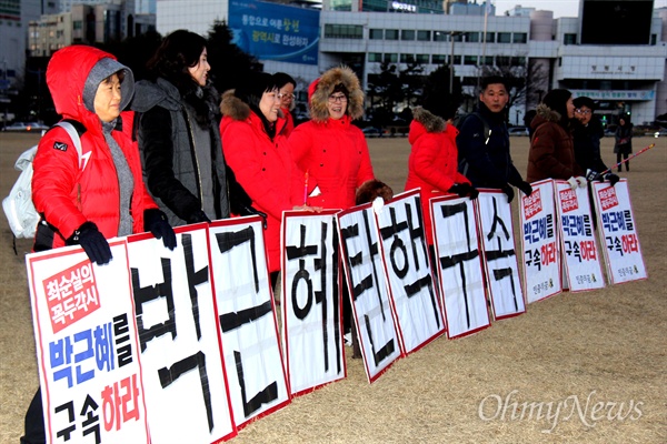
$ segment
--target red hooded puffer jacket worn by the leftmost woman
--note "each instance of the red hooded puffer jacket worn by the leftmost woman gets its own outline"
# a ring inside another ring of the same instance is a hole
[[[72,141],[67,131],[59,127],[44,134],[34,157],[32,201],[37,211],[58,230],[53,238],[53,248],[64,245],[64,241],[74,230],[87,221],[93,222],[107,239],[118,235],[118,175],[102,133],[102,123],[98,115],[86,107],[86,102],[94,98],[84,97],[89,73],[102,59],[116,60],[113,56],[96,48],[72,46],[57,51],[47,68],[47,83],[56,111],[64,119],[73,119],[86,127],[86,132],[81,135],[84,163],[82,170],[79,168],[79,154]],[[104,62],[101,63],[103,64]],[[109,75],[113,72],[109,72]],[[121,89],[122,109],[129,103],[133,92],[131,75],[126,75]],[[97,85],[92,90],[94,94]],[[145,231],[143,211],[157,205],[143,185],[139,151],[129,135],[131,115],[123,114],[126,118],[119,118],[118,122],[120,123],[121,119],[125,121],[125,131],[117,127],[112,137],[125,153],[132,172],[135,189],[130,212],[133,219],[132,229],[137,233]]]

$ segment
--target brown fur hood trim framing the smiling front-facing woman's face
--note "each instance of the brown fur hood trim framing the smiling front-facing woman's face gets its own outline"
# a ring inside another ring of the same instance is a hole
[[[308,104],[310,108],[310,118],[316,122],[326,122],[329,119],[329,95],[334,92],[337,84],[348,90],[348,103],[346,113],[351,119],[359,119],[364,115],[364,91],[359,84],[359,79],[348,67],[331,68],[319,79],[310,83],[308,88]]]

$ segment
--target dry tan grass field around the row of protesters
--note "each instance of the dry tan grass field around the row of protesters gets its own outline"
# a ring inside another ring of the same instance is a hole
[[[0,133],[0,195],[36,135]],[[563,293],[455,341],[438,339],[369,385],[348,377],[239,432],[236,443],[667,443],[667,139],[636,138],[628,178],[648,280]],[[603,141],[614,163],[613,138]],[[405,138],[369,139],[378,179],[402,191]],[[528,139],[512,139],[526,171]],[[24,254],[0,218],[0,443],[18,443],[38,384]],[[532,408],[531,408],[532,406]],[[537,406],[541,406],[538,411]],[[181,443],[178,443],[181,444]]]

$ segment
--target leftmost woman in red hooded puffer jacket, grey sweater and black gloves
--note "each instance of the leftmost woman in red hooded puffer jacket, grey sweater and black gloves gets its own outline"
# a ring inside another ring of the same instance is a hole
[[[111,261],[107,239],[151,231],[165,246],[176,234],[143,185],[137,144],[122,131],[121,110],[135,91],[132,71],[99,49],[72,46],[57,51],[47,68],[56,111],[80,127],[82,155],[67,131],[41,138],[34,157],[32,200],[40,223],[34,250],[80,244],[98,265]],[[21,443],[46,441],[41,393],[26,414]]]

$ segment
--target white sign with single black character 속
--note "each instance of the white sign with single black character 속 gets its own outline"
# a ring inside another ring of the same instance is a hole
[[[476,208],[494,317],[500,320],[525,313],[511,205],[500,190],[486,190],[480,191]]]

